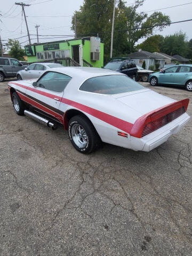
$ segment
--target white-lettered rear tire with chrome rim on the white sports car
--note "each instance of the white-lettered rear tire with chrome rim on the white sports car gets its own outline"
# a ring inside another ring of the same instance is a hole
[[[101,140],[94,126],[83,115],[77,115],[70,119],[68,132],[72,145],[81,153],[89,154],[101,144]]]

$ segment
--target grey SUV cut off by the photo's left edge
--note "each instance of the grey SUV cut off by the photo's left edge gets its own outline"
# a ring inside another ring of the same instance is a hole
[[[0,57],[0,82],[3,82],[5,78],[15,77],[17,72],[25,67],[17,59]]]

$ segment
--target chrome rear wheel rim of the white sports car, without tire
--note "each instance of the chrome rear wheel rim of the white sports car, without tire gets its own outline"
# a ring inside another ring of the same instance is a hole
[[[77,145],[77,147],[79,147],[79,148],[86,147],[88,137],[86,135],[86,132],[85,132],[83,126],[81,126],[79,124],[74,124],[71,127],[71,137],[72,137],[73,141],[75,142],[75,144]]]

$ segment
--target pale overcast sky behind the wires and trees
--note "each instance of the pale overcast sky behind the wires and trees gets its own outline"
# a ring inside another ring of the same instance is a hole
[[[133,3],[134,0],[127,0],[127,5]],[[23,3],[28,3],[30,6],[25,7],[31,43],[37,42],[35,26],[39,25],[39,35],[72,35],[74,31],[70,29],[71,18],[73,13],[79,10],[83,4],[83,0],[23,0]],[[191,19],[192,2],[190,0],[145,0],[145,3],[138,8],[138,11],[147,12],[148,15],[153,13],[153,10],[162,9],[174,5],[186,4],[183,6],[172,7],[161,10],[162,13],[169,15],[171,21],[180,21]],[[15,0],[1,0],[0,9],[0,35],[2,43],[6,43],[8,38],[19,38],[22,46],[28,44],[27,29],[24,17],[21,15],[21,6],[15,5]],[[49,16],[49,17],[47,17]],[[52,17],[50,17],[52,16]],[[187,34],[188,39],[192,38],[192,21],[173,24],[166,27],[162,32],[155,31],[155,34],[163,36],[174,34],[182,30]],[[50,36],[39,36],[39,42],[52,42],[67,38],[48,38]],[[56,36],[55,36],[56,37]],[[140,39],[141,43],[144,39]]]

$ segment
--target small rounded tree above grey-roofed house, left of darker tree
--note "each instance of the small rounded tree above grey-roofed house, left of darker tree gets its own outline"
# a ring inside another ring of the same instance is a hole
[[[137,48],[148,52],[159,52],[159,47],[163,39],[164,37],[161,35],[150,36],[141,44],[138,44]]]

